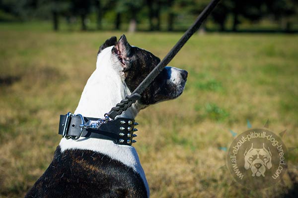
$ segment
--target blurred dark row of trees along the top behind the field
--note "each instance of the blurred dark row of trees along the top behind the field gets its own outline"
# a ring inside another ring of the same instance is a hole
[[[209,0],[0,0],[0,21],[52,20],[69,29],[184,30]],[[207,30],[297,31],[298,0],[223,0]],[[129,24],[129,27],[127,27]],[[241,27],[241,25],[244,25]],[[254,25],[255,28],[248,28]]]

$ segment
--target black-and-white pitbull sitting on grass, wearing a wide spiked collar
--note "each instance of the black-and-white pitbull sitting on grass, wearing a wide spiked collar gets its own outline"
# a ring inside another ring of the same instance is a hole
[[[102,118],[145,79],[160,59],[131,46],[123,35],[99,49],[96,69],[87,81],[74,114]],[[119,117],[134,119],[150,104],[183,92],[185,70],[165,67],[142,98]],[[52,163],[26,198],[145,198],[149,187],[137,151],[112,141],[62,138]]]

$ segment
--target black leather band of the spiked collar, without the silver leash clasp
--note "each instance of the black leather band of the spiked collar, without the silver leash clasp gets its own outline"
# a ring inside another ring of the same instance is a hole
[[[67,115],[60,115],[60,123],[59,123],[59,134],[63,135],[63,130],[66,124]],[[88,120],[98,120],[99,118],[83,118],[85,122]],[[71,115],[69,117],[68,126],[66,127],[66,138],[72,137],[86,137],[86,138],[97,138],[103,140],[111,140],[115,144],[118,145],[129,145],[136,141],[133,140],[137,135],[134,134],[135,123],[134,119],[129,118],[117,118],[112,121],[108,121],[105,124],[100,125],[98,129],[93,128],[81,128],[79,125],[81,124],[81,118],[79,116]],[[82,131],[81,131],[82,129]]]

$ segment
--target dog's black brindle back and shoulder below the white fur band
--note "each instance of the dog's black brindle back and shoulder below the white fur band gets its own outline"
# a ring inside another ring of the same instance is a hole
[[[48,169],[25,198],[144,198],[147,190],[131,167],[91,150],[57,147]]]

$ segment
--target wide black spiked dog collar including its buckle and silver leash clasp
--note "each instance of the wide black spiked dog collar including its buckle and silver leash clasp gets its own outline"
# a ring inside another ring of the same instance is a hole
[[[129,121],[134,123],[134,119],[116,118],[109,120],[108,118],[89,118],[81,114],[60,115],[59,134],[63,138],[78,140],[80,137],[97,138],[113,141],[119,145],[131,146],[134,134],[133,124],[129,125]]]

